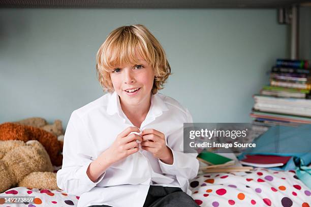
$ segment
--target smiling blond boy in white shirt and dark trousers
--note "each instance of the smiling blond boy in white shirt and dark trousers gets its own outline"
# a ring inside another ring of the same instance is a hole
[[[165,52],[143,25],[113,30],[97,53],[108,93],[69,120],[57,185],[80,206],[198,206],[189,179],[197,154],[183,150],[189,111],[158,93],[171,73]]]

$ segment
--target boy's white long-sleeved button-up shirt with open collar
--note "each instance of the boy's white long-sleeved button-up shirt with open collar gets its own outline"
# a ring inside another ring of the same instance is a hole
[[[150,185],[179,187],[191,195],[189,180],[197,176],[199,161],[197,153],[183,153],[184,122],[193,122],[187,109],[173,98],[160,93],[152,95],[140,130],[153,128],[165,134],[173,164],[162,162],[140,147],[138,152],[110,165],[94,183],[86,175],[88,165],[112,145],[121,131],[134,126],[122,112],[117,93],[103,95],[71,114],[57,186],[80,196],[78,207],[142,207]]]

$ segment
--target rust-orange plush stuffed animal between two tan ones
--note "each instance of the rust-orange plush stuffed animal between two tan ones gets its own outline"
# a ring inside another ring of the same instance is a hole
[[[46,149],[53,165],[60,166],[63,162],[63,142],[43,129],[6,122],[0,124],[0,140],[38,140]]]

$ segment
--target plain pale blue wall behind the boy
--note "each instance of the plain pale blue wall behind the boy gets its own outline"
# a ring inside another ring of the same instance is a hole
[[[0,122],[61,119],[100,97],[95,56],[121,25],[146,25],[173,75],[161,92],[195,122],[250,122],[252,95],[275,59],[289,56],[276,10],[2,9]]]

